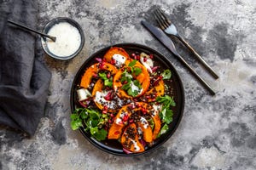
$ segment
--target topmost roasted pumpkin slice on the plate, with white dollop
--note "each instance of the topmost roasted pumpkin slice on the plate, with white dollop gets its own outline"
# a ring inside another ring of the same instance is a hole
[[[112,47],[104,55],[103,59],[106,59],[108,63],[121,67],[125,65],[127,59],[129,59],[129,54],[126,53],[124,48]]]

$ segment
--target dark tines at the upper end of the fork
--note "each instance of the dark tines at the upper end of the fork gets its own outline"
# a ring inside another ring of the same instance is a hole
[[[154,19],[157,21],[158,25],[162,30],[165,30],[168,26],[172,24],[171,20],[166,17],[166,14],[160,8],[156,8],[153,14]]]

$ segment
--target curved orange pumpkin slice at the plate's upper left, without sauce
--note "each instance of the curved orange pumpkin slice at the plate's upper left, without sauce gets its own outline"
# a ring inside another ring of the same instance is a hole
[[[114,75],[118,70],[114,65],[111,65],[106,62],[96,63],[91,65],[85,72],[81,78],[80,86],[82,88],[89,88],[91,78],[97,75],[99,71],[110,71],[112,75]]]

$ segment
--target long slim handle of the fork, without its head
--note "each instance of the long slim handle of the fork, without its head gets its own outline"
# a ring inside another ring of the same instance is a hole
[[[181,42],[183,42],[183,44],[184,44],[187,48],[189,48],[189,50],[190,50],[193,54],[195,54],[196,59],[199,59],[199,61],[200,61],[201,64],[207,69],[207,71],[209,71],[209,72],[212,74],[212,77],[214,77],[215,79],[218,79],[218,75],[215,73],[215,71],[212,70],[211,66],[208,65],[207,62],[206,62],[204,59],[201,58],[200,54],[196,53],[195,49],[192,48],[192,47],[189,45],[189,43],[186,42],[186,41],[183,39],[183,37],[177,35],[177,38],[178,38]]]

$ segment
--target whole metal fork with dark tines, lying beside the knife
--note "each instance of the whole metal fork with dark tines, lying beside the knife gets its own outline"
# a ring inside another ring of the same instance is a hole
[[[207,71],[209,71],[212,74],[212,77],[214,77],[215,79],[218,79],[218,75],[215,73],[215,71],[212,70],[212,68],[210,67],[210,65],[207,64],[207,62],[201,58],[201,56],[199,54],[196,53],[195,49],[192,48],[188,42],[186,42],[183,37],[181,37],[177,31],[176,26],[174,26],[171,22],[171,20],[169,20],[166,17],[166,14],[160,9],[160,8],[156,8],[154,10],[154,19],[157,21],[158,25],[160,26],[160,29],[162,31],[165,31],[167,35],[171,35],[171,36],[175,36],[177,37],[181,42],[183,42],[183,44],[189,48],[189,50],[191,50],[191,52],[193,54],[195,54],[196,59],[199,59],[199,61],[201,62],[201,64],[207,69]]]

